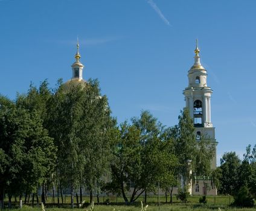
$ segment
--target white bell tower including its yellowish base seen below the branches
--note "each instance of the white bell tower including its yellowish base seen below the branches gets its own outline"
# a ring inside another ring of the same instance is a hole
[[[188,71],[188,87],[183,91],[185,106],[188,108],[190,117],[194,121],[196,140],[210,140],[215,146],[214,157],[211,168],[216,169],[216,146],[215,128],[211,122],[211,94],[213,90],[207,85],[207,71],[200,63],[199,48],[194,50],[194,65]],[[193,162],[193,161],[192,161]],[[217,195],[217,189],[211,183],[210,178],[203,178],[202,175],[194,178],[194,184],[190,188],[192,195]],[[206,183],[203,183],[206,181]],[[206,185],[205,185],[206,184]]]

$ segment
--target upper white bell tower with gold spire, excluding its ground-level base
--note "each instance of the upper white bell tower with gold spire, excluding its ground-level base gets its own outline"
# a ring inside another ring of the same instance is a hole
[[[213,90],[207,85],[207,71],[200,63],[200,50],[197,40],[194,52],[196,54],[194,55],[194,65],[188,71],[188,87],[183,91],[186,107],[194,121],[196,139],[200,140],[203,135],[216,146],[215,128],[211,122],[211,94]],[[216,150],[211,168],[216,168]]]

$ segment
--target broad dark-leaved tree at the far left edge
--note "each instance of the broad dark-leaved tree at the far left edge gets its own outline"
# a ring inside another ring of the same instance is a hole
[[[42,183],[55,159],[53,139],[42,126],[37,112],[0,98],[1,198],[32,192]],[[6,162],[8,161],[8,162]]]

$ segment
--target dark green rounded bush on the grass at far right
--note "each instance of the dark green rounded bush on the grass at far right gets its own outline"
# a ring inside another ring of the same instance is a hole
[[[234,203],[233,206],[238,207],[253,207],[254,206],[254,199],[252,198],[251,194],[249,193],[249,189],[247,186],[240,187],[237,194],[234,195]]]

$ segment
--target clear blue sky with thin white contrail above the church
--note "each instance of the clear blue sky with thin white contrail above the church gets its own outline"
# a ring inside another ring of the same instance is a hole
[[[0,0],[0,93],[71,78],[80,40],[84,78],[98,78],[118,122],[149,110],[178,123],[199,39],[218,160],[242,155],[256,130],[256,1]]]

